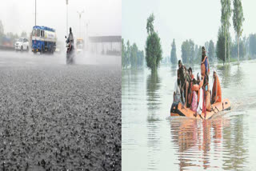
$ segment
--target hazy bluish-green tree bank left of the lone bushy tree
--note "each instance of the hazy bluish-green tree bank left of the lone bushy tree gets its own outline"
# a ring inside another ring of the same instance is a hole
[[[128,67],[132,69],[142,68],[144,66],[144,52],[138,50],[138,46],[134,43],[130,46],[129,40],[125,43],[122,38],[122,68]]]

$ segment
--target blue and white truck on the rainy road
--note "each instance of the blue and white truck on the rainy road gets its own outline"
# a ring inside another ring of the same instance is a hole
[[[32,31],[32,52],[53,54],[56,49],[56,33],[46,26],[34,26]]]

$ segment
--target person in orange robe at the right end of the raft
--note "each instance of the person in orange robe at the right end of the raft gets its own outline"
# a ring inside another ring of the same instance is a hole
[[[214,85],[212,89],[211,104],[214,104],[215,102],[222,102],[222,89],[218,80],[218,75],[214,70]]]

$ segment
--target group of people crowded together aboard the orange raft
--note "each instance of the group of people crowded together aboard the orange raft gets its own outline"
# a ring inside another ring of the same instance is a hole
[[[209,87],[210,67],[205,47],[202,46],[201,74],[194,78],[193,70],[178,61],[177,82],[174,85],[174,101],[182,102],[197,114],[211,111],[211,104],[222,101],[222,89],[216,71],[213,72],[214,84],[212,91]],[[206,116],[206,115],[205,115]]]

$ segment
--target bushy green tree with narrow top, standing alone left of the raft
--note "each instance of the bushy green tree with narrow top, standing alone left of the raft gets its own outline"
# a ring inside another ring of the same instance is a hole
[[[154,31],[154,14],[150,14],[146,22],[146,66],[155,71],[162,60],[162,46],[158,34]]]

